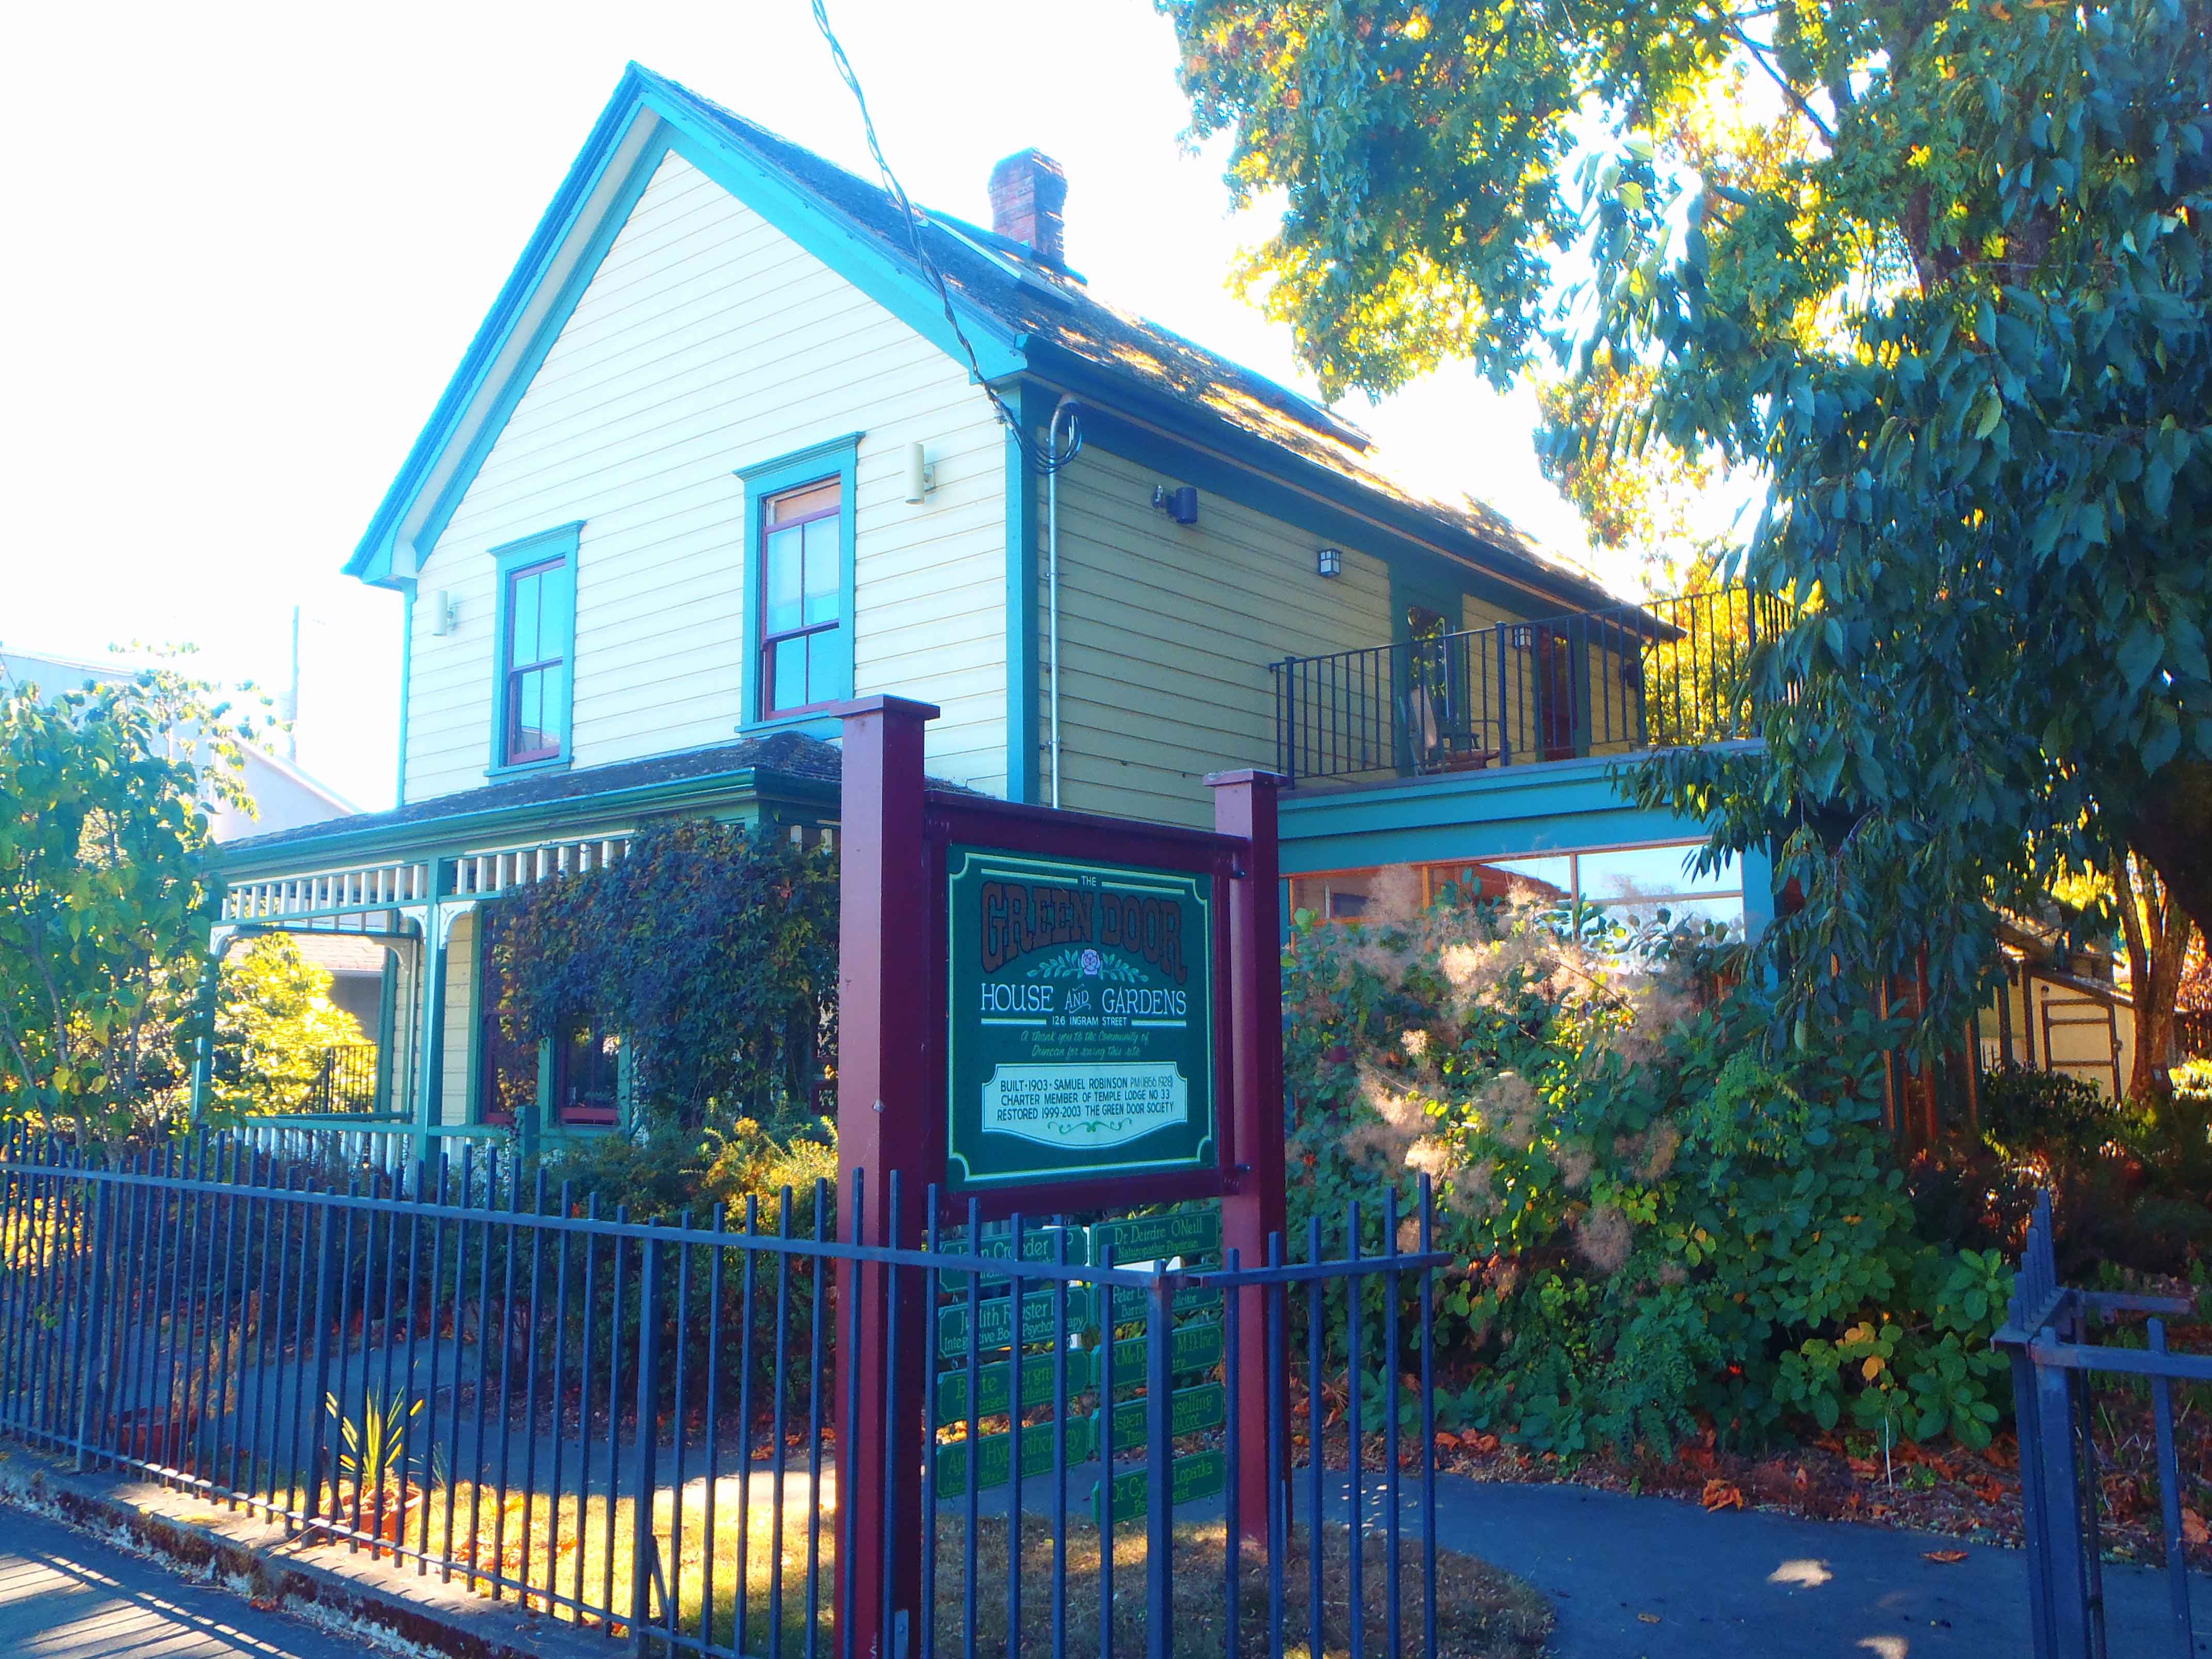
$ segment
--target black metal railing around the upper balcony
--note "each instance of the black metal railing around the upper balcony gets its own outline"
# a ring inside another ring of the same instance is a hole
[[[1732,588],[1285,657],[1276,765],[1416,776],[1747,737],[1741,670],[1785,615]]]

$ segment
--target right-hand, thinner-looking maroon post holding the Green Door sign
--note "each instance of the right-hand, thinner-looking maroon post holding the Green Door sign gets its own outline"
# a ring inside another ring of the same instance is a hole
[[[1237,1168],[1221,1199],[1221,1248],[1245,1267],[1267,1263],[1267,1239],[1285,1228],[1283,1197],[1283,889],[1276,856],[1274,772],[1214,772],[1214,830],[1250,843],[1230,885],[1230,1150]],[[1396,1248],[1396,1245],[1394,1245]],[[1237,1321],[1237,1411],[1245,1433],[1267,1422],[1267,1316],[1261,1292]],[[1265,1440],[1259,1442],[1265,1447]],[[1237,1513],[1248,1540],[1267,1537],[1265,1451],[1234,1471]]]

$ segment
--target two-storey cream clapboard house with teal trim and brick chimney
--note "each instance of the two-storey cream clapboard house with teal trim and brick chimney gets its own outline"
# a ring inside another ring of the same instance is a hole
[[[909,226],[622,75],[345,566],[405,604],[398,805],[226,854],[226,929],[385,953],[389,1119],[608,1121],[604,1044],[487,1020],[487,909],[655,814],[834,838],[854,695],[940,706],[931,772],[1011,801],[1210,823],[1208,772],[1283,770],[1292,902],[1329,916],[1396,863],[1770,914],[1763,860],[1686,878],[1697,830],[1608,781],[1734,737],[1714,666],[1761,617],[1624,604],[1394,482],[1093,294],[1066,195],[1024,150],[989,228]]]

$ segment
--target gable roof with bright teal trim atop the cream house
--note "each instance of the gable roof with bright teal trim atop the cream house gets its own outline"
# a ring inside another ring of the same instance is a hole
[[[883,186],[630,64],[347,560],[349,575],[403,577],[403,540],[422,538],[425,551],[436,542],[668,148],[958,354],[914,254],[914,230]],[[1391,478],[1374,440],[1321,403],[1102,301],[1079,276],[1020,243],[951,215],[920,215],[929,261],[947,281],[987,378],[1037,374],[1108,411],[1150,416],[1170,436],[1219,442],[1232,460],[1343,495],[1387,529],[1517,575],[1564,604],[1615,602],[1595,577],[1546,555],[1482,502],[1438,500]]]

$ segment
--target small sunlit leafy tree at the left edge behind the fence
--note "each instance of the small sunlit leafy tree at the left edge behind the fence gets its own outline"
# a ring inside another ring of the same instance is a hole
[[[0,697],[0,1117],[113,1144],[181,1104],[243,730],[173,668]]]

